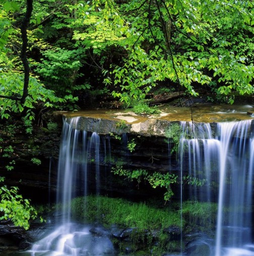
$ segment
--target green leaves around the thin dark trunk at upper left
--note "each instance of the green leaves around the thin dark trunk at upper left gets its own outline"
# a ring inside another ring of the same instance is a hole
[[[2,6],[1,3],[0,6]],[[20,10],[24,11],[24,9]],[[38,103],[43,103],[44,107],[52,107],[52,103],[56,103],[56,101],[65,101],[65,99],[56,97],[52,90],[46,89],[33,73],[29,79],[29,95],[25,103],[21,104],[19,100],[12,99],[21,97],[24,84],[23,65],[19,58],[19,49],[22,44],[20,30],[17,25],[13,25],[15,22],[20,22],[13,18],[20,16],[18,13],[14,14],[17,11],[19,10],[14,10],[14,8],[8,8],[8,10],[4,8],[0,12],[0,95],[3,96],[0,97],[0,115],[2,119],[9,118],[12,112],[26,111],[29,114]],[[41,40],[34,37],[35,31],[37,29],[34,29],[33,32],[28,31],[30,46],[43,48]],[[30,62],[34,63],[32,59]]]

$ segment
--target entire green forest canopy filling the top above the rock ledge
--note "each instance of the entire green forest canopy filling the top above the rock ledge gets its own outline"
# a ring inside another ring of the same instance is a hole
[[[253,94],[253,1],[1,0],[0,5],[2,118],[24,109],[33,113],[35,106],[73,110],[79,95],[94,91],[111,93],[127,106],[161,85],[194,96],[205,87],[228,95],[229,103],[235,94]]]

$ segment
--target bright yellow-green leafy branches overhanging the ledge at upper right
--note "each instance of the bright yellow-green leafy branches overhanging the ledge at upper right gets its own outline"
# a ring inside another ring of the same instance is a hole
[[[194,83],[209,84],[213,78],[218,93],[253,93],[250,1],[242,5],[233,0],[226,4],[94,0],[70,6],[72,12],[75,9],[71,26],[78,44],[97,57],[111,46],[121,47],[120,64],[102,70],[105,84],[116,87],[112,94],[121,101],[144,99],[161,81],[171,81],[191,95],[198,94]]]

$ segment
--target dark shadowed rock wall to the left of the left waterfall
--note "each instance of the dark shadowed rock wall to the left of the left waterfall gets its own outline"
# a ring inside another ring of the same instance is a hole
[[[8,186],[18,186],[25,198],[35,202],[48,201],[49,172],[52,181],[50,189],[53,192],[56,190],[61,127],[49,130],[34,126],[31,133],[26,133],[23,123],[15,120],[15,124],[7,123],[0,131],[3,139],[0,141],[1,176],[6,178]],[[9,171],[8,167],[13,170]]]

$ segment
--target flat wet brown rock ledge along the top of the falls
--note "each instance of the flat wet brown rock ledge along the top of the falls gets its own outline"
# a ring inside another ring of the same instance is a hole
[[[188,121],[195,123],[217,123],[251,119],[252,106],[199,106],[192,108],[163,107],[158,115],[137,115],[132,111],[81,111],[76,113],[55,112],[55,116],[63,116],[70,123],[73,117],[79,117],[74,127],[78,130],[97,132],[100,134],[129,133],[141,136],[165,137],[172,123]],[[58,118],[59,119],[59,118]],[[254,120],[253,120],[254,122]]]

